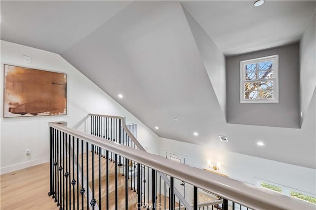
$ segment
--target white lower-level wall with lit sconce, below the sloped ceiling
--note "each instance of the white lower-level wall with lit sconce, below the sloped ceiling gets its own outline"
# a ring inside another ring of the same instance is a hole
[[[160,138],[160,155],[166,151],[185,157],[185,163],[202,169],[209,169],[207,159],[220,162],[219,173],[231,178],[255,184],[255,178],[274,182],[283,186],[316,195],[316,170],[243,155],[235,152],[220,151],[200,146]],[[294,154],[295,155],[295,154]]]

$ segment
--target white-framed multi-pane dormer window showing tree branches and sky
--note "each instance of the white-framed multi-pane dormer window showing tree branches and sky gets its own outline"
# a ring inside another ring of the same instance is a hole
[[[240,103],[278,103],[278,55],[240,61]]]

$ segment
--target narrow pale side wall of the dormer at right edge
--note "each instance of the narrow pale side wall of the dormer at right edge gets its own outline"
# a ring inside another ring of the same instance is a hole
[[[316,87],[316,10],[300,42],[301,124]]]

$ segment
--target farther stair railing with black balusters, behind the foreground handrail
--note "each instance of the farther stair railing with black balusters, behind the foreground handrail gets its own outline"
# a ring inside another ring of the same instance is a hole
[[[88,116],[90,116],[90,125],[91,125],[90,134],[91,135],[94,135],[103,139],[107,139],[107,140],[112,140],[120,144],[125,143],[126,146],[130,146],[133,148],[140,149],[142,151],[146,151],[146,149],[142,146],[142,144],[134,137],[134,135],[127,128],[125,117],[113,116],[113,115],[102,115],[102,114],[91,114],[91,113],[89,113]],[[129,142],[131,142],[131,144],[129,144]],[[121,164],[121,157],[119,156],[118,158],[119,158],[118,166],[122,166],[123,164]],[[165,174],[158,172],[158,175],[159,177],[161,177],[162,181],[166,183],[166,186],[170,187],[170,184],[171,184],[170,179]],[[151,190],[149,186],[150,177],[148,173],[147,173],[147,176],[148,176],[147,177],[147,192],[150,192]],[[143,175],[142,177],[146,177],[146,175]],[[144,180],[146,181],[146,179]],[[135,188],[137,189],[137,186],[135,186]],[[184,198],[184,196],[179,192],[179,190],[176,187],[174,187],[173,191],[176,197],[179,199],[180,204],[182,204],[187,210],[192,210],[192,206],[188,203],[188,201]],[[148,203],[149,203],[150,194],[151,193],[147,194]]]

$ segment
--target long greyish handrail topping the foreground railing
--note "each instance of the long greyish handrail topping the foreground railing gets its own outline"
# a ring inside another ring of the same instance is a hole
[[[275,192],[269,192],[250,184],[243,183],[211,174],[206,171],[191,167],[164,157],[154,155],[139,149],[134,149],[123,144],[105,141],[81,131],[50,122],[50,127],[70,134],[80,140],[112,151],[125,158],[136,161],[157,170],[163,174],[170,175],[198,188],[210,191],[229,201],[236,202],[250,209],[260,210],[315,210],[315,205],[287,197]]]

